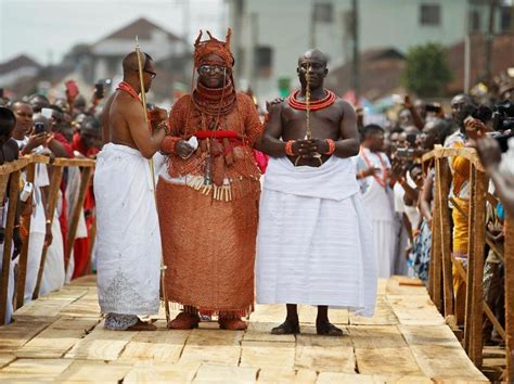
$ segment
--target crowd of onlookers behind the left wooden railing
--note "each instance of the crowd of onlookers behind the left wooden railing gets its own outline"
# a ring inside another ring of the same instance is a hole
[[[95,111],[97,102],[86,108],[83,98],[56,99],[52,102],[42,94],[31,94],[16,100],[2,99],[0,105],[0,164],[21,156],[38,154],[51,158],[94,157],[101,149],[101,123]],[[14,286],[18,280],[18,260],[22,246],[27,243],[27,270],[23,303],[33,299],[38,279],[43,247],[47,260],[40,281],[39,294],[59,290],[66,281],[90,273],[88,259],[93,239],[90,231],[94,221],[92,189],[86,191],[80,213],[76,241],[68,269],[64,268],[68,227],[80,189],[80,169],[67,167],[60,185],[54,217],[49,213],[50,180],[53,167],[37,164],[34,182],[22,175],[20,199],[13,231],[13,252],[10,263],[7,319],[13,310]],[[0,246],[3,255],[3,238],[9,208],[9,187],[3,184],[0,201]]]

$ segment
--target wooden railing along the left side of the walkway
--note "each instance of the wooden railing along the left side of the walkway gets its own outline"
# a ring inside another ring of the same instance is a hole
[[[3,264],[2,264],[2,276],[1,276],[1,293],[0,293],[0,324],[5,322],[5,312],[8,304],[8,286],[9,286],[9,271],[11,265],[11,254],[12,254],[12,240],[14,231],[14,220],[17,208],[17,196],[20,193],[20,179],[22,172],[25,172],[26,181],[33,182],[36,174],[36,166],[38,164],[44,164],[49,167],[49,174],[51,175],[50,182],[50,192],[47,199],[46,213],[47,218],[50,220],[50,223],[53,222],[55,209],[57,206],[59,191],[61,188],[61,181],[63,177],[64,169],[66,167],[80,167],[81,168],[81,180],[80,188],[78,193],[78,199],[73,207],[73,215],[68,218],[68,230],[67,230],[67,243],[65,246],[64,255],[64,271],[66,273],[69,264],[69,257],[75,244],[75,236],[77,233],[77,226],[80,217],[80,212],[83,209],[83,201],[86,197],[86,191],[88,189],[91,174],[94,168],[95,162],[92,159],[81,159],[81,158],[55,158],[51,159],[48,156],[41,155],[30,155],[22,157],[15,162],[8,163],[0,166],[0,200],[3,200],[4,195],[9,196],[9,209],[7,215],[7,222],[4,228],[4,244],[3,244]],[[7,187],[9,184],[9,191]],[[25,226],[30,228],[30,216],[26,218]],[[90,254],[91,257],[90,246]],[[39,296],[39,290],[41,286],[41,280],[44,271],[44,264],[47,260],[48,246],[43,246],[41,254],[41,261],[39,266],[36,287],[33,293],[33,298]],[[17,309],[23,306],[24,303],[24,293],[25,293],[25,280],[27,272],[27,259],[28,259],[28,239],[23,242],[22,251],[20,254],[18,261],[18,274],[15,279],[15,290],[14,290],[14,309]]]

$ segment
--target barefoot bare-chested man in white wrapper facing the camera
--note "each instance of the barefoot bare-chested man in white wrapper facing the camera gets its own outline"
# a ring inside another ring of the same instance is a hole
[[[297,73],[301,89],[272,105],[261,142],[271,158],[260,200],[257,302],[286,304],[273,334],[299,333],[297,305],[308,304],[318,306],[317,333],[338,336],[329,306],[372,316],[376,297],[371,223],[349,158],[359,152],[356,113],[323,88],[320,51],[304,53]]]

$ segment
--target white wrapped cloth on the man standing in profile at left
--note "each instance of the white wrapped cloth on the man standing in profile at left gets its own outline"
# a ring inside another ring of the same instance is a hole
[[[102,312],[157,313],[160,233],[146,158],[129,146],[106,144],[97,157],[94,196]]]

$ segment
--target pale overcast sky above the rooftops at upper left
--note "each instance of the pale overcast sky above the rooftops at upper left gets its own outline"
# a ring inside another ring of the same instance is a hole
[[[223,10],[223,0],[0,0],[0,63],[20,53],[57,63],[76,43],[95,42],[142,16],[179,36],[188,29],[193,43],[200,28],[220,34]]]

